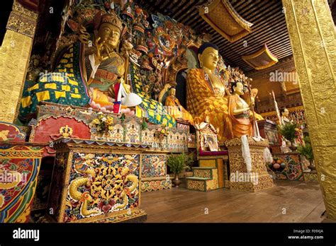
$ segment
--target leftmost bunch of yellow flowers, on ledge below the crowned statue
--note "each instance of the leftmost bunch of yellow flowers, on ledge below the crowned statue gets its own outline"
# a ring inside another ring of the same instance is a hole
[[[113,117],[99,112],[98,117],[92,120],[91,125],[96,129],[96,135],[99,137],[99,140],[106,139],[108,136],[111,136],[111,132],[113,131]]]

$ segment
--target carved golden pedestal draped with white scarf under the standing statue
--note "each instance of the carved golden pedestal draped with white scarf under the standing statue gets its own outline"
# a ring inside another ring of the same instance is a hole
[[[230,163],[230,189],[246,192],[257,192],[273,186],[273,180],[267,173],[264,163],[264,148],[269,146],[267,140],[254,141],[248,137],[252,169],[247,172],[247,165],[242,156],[242,141],[240,138],[226,141]]]

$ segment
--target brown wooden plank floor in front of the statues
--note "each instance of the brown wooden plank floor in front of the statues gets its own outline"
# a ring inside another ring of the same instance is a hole
[[[321,222],[317,183],[280,181],[260,192],[196,192],[184,187],[142,192],[147,222]]]

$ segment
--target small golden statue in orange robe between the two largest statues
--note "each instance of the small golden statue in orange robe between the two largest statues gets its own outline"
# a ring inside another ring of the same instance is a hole
[[[169,90],[169,95],[166,98],[167,111],[169,115],[172,115],[175,119],[184,119],[190,124],[194,125],[194,119],[189,114],[188,111],[184,109],[184,107],[179,102],[179,99],[176,98],[176,89],[171,88]]]

